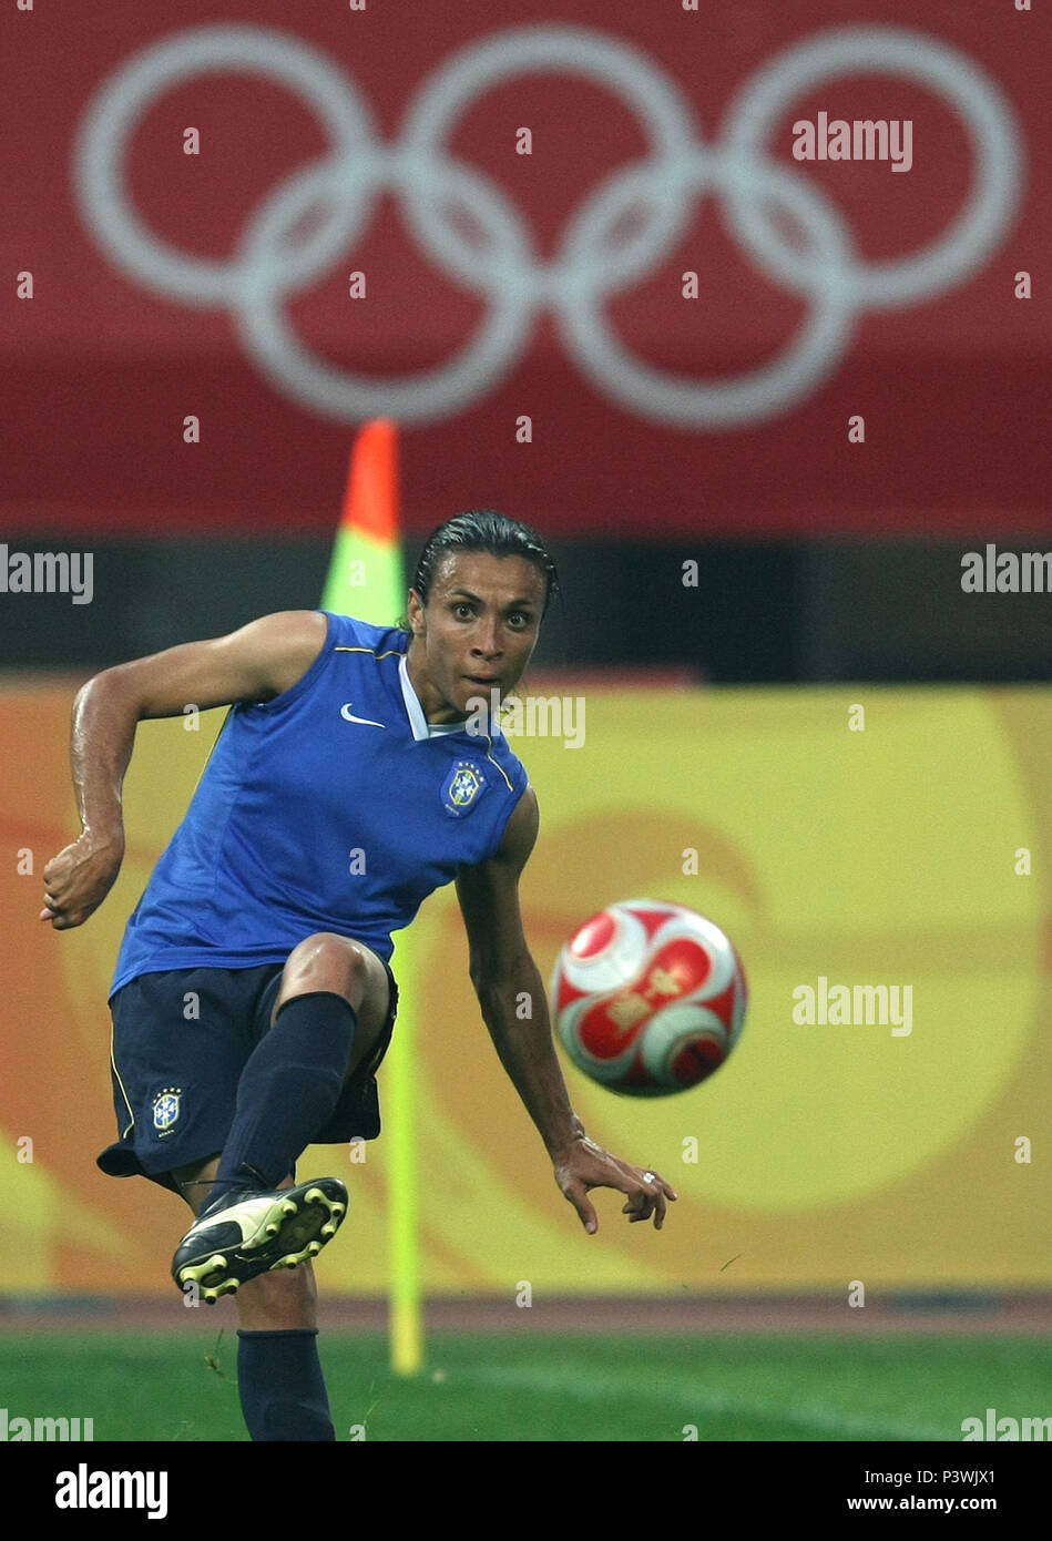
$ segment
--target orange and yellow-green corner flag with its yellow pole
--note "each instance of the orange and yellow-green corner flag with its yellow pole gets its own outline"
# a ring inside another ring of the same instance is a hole
[[[387,418],[362,427],[347,478],[343,518],[322,595],[322,609],[373,626],[396,626],[407,604],[399,519],[397,428]],[[382,794],[380,794],[382,795]],[[416,1194],[413,1086],[414,1000],[408,938],[397,946],[399,1016],[384,1062],[387,1123],[391,1368],[416,1375],[424,1364],[420,1251]]]

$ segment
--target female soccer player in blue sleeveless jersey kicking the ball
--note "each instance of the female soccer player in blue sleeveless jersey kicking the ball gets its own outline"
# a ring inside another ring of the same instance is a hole
[[[336,1438],[310,1259],[347,1191],[297,1185],[294,1163],[311,1143],[379,1134],[391,932],[436,888],[456,881],[482,1017],[585,1230],[591,1188],[619,1190],[622,1213],[656,1228],[676,1197],[587,1137],[522,934],[538,800],[491,707],[522,678],[556,587],[533,530],[464,513],[425,546],[408,630],[280,612],[77,693],[83,832],[45,868],[40,918],[55,931],[83,925],[117,878],[136,724],[231,707],[128,920],[109,994],[120,1139],[99,1165],[180,1193],[197,1216],[173,1274],[209,1302],[237,1291],[253,1439]]]

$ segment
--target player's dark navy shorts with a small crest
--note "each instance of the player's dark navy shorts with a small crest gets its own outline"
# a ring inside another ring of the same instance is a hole
[[[384,962],[384,960],[380,960]],[[270,1028],[283,963],[140,974],[109,1002],[114,1111],[120,1139],[99,1156],[111,1177],[149,1177],[179,1193],[171,1171],[217,1156],[226,1143],[245,1060]],[[343,1086],[314,1145],[374,1140],[380,1133],[376,1071],[397,1012],[397,985],[367,1065]]]

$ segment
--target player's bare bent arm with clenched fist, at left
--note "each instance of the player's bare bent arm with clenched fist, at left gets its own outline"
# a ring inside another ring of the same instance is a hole
[[[234,701],[270,701],[300,680],[325,643],[319,610],[280,610],[228,636],[182,643],[103,669],[77,692],[69,758],[83,831],[43,869],[40,920],[80,926],[117,881],[125,857],[122,787],[143,718]]]

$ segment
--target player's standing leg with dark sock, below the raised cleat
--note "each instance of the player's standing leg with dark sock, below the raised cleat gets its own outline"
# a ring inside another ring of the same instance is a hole
[[[173,1177],[199,1213],[219,1157]],[[279,1187],[291,1188],[294,1177]],[[317,1284],[310,1262],[262,1273],[237,1291],[237,1395],[254,1441],[336,1439],[317,1356]]]

